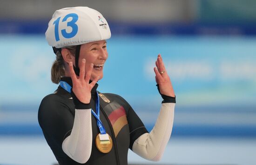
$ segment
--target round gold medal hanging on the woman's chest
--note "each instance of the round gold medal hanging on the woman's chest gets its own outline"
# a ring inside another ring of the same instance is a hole
[[[96,147],[98,148],[98,150],[102,153],[108,153],[111,151],[112,149],[112,139],[111,137],[108,135],[108,133],[106,133],[106,135],[108,136],[107,138],[100,138],[101,136],[101,133],[99,133],[97,136],[96,136],[96,139],[95,139],[95,143],[96,143]]]

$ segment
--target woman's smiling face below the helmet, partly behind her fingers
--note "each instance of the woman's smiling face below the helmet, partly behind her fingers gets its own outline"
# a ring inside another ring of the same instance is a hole
[[[94,64],[91,74],[91,80],[100,76],[103,77],[103,67],[108,59],[107,42],[106,40],[89,42],[81,45],[79,55],[79,68],[81,69],[82,59],[86,59],[85,73],[87,73],[90,64]]]

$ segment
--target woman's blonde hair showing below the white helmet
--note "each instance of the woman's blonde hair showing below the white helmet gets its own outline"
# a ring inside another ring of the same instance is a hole
[[[66,46],[63,47],[69,50],[69,52],[72,55],[75,55],[75,51],[76,51],[76,46]],[[62,48],[62,49],[63,49]],[[52,65],[52,69],[51,69],[51,79],[52,82],[55,84],[59,84],[61,77],[65,76],[65,65],[64,65],[64,59],[61,55],[61,51],[57,51],[56,52],[56,59]]]

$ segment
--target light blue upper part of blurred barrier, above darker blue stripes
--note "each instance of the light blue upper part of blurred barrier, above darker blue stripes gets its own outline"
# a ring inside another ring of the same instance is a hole
[[[1,104],[38,102],[56,89],[55,56],[43,35],[1,35],[0,42]],[[154,100],[153,67],[161,53],[179,105],[256,105],[255,45],[255,37],[114,36],[99,90]]]

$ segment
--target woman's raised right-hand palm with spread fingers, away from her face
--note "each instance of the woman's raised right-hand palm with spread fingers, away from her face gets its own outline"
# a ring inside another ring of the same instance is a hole
[[[156,67],[154,67],[155,81],[157,84],[159,84],[160,93],[166,96],[175,97],[171,80],[167,74],[167,71],[165,69],[165,66],[163,64],[163,60],[160,54],[158,54],[157,56],[155,65],[156,65]]]

